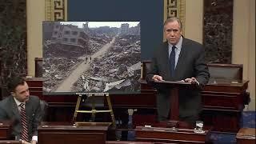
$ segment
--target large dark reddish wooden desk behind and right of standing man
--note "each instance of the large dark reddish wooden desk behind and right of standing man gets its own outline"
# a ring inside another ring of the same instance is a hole
[[[249,81],[212,80],[202,91],[202,120],[214,131],[237,133]]]

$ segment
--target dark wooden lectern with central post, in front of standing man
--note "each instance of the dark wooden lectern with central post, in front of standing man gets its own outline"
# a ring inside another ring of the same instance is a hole
[[[195,83],[190,82],[174,82],[174,81],[159,81],[155,82],[157,86],[164,86],[170,89],[170,121],[167,123],[160,124],[164,127],[182,127],[191,128],[186,122],[179,122],[179,110],[178,110],[178,90],[180,88],[193,89],[195,88]],[[166,125],[166,126],[165,126]]]

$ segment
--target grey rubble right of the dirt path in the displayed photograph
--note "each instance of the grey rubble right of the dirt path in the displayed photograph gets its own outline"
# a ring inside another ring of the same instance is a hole
[[[94,58],[90,70],[74,84],[74,91],[134,93],[140,90],[139,35],[118,36],[107,54]]]

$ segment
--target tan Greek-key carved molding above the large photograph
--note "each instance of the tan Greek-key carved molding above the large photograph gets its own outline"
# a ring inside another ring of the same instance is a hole
[[[46,21],[67,21],[67,0],[45,0]]]

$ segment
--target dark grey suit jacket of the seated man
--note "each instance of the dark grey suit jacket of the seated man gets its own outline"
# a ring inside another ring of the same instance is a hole
[[[29,101],[26,102],[26,116],[29,138],[31,140],[32,136],[38,135],[37,128],[39,122],[41,122],[41,107],[38,97],[30,95]],[[10,120],[13,122],[12,134],[18,139],[21,138],[22,134],[20,117],[20,112],[13,96],[9,96],[0,102],[0,120]]]

